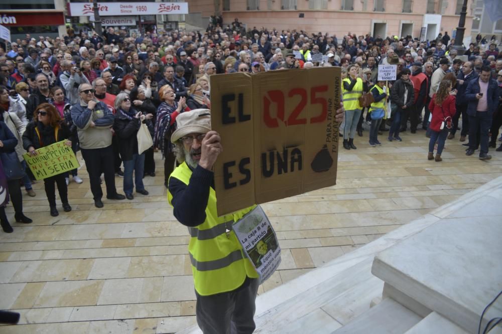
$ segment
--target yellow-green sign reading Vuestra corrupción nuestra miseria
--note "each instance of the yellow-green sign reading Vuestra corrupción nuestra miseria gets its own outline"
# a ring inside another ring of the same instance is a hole
[[[41,147],[36,150],[38,154],[35,156],[28,153],[23,154],[23,158],[37,180],[43,180],[80,167],[75,153],[65,142],[66,140],[62,140]]]

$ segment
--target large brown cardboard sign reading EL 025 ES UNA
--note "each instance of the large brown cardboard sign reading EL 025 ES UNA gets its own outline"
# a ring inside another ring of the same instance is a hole
[[[340,68],[212,75],[218,215],[334,185]]]

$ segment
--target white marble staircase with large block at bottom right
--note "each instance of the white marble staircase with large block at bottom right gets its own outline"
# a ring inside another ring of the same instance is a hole
[[[502,177],[260,295],[255,332],[477,334],[502,290],[500,259]],[[495,316],[502,296],[481,332]]]

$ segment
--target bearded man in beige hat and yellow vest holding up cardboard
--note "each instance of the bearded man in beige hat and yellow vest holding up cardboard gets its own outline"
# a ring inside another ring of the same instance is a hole
[[[343,108],[336,119],[343,118]],[[242,256],[242,246],[227,224],[253,207],[218,217],[213,164],[222,152],[221,138],[211,130],[207,109],[195,109],[176,118],[171,136],[180,165],[169,178],[168,200],[174,216],[188,226],[188,252],[197,297],[197,323],[204,333],[252,333],[258,273]],[[228,139],[231,142],[231,138]]]

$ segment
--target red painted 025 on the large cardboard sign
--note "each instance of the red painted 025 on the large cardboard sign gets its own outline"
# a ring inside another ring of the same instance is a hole
[[[310,124],[312,123],[322,123],[327,119],[328,116],[328,103],[325,98],[317,97],[316,94],[324,93],[328,91],[328,85],[316,86],[310,89],[310,105],[320,104],[321,113],[317,116],[312,116],[310,118]],[[283,121],[286,126],[290,125],[301,125],[307,124],[306,118],[300,118],[302,111],[307,105],[307,90],[304,88],[293,88],[288,93],[288,98],[292,98],[295,95],[300,96],[300,102],[293,109],[288,119],[285,120],[285,97],[284,93],[280,90],[268,91],[263,97],[263,120],[267,127],[277,128],[279,127],[279,120]],[[270,114],[270,107],[272,103],[277,104],[277,117],[272,117]]]

